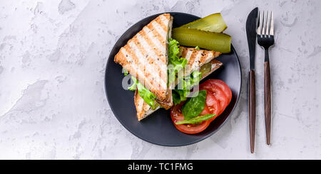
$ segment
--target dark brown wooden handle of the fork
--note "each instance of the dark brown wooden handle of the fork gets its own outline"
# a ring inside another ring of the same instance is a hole
[[[270,62],[264,62],[264,112],[265,112],[265,131],[266,143],[271,144],[271,77]]]

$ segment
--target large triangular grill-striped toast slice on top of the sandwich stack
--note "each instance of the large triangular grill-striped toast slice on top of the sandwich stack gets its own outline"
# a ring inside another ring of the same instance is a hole
[[[171,106],[168,92],[168,38],[173,17],[163,13],[144,26],[114,58],[133,77],[156,95],[157,101]]]

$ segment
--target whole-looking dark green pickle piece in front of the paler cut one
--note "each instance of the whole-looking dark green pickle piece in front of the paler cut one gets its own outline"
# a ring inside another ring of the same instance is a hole
[[[172,37],[180,45],[214,50],[220,53],[230,53],[231,38],[225,33],[200,31],[193,28],[174,28]]]

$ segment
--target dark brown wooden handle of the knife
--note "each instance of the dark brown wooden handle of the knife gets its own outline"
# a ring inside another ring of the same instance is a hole
[[[255,143],[255,71],[250,70],[248,92],[248,121],[250,125],[250,150],[254,153]]]

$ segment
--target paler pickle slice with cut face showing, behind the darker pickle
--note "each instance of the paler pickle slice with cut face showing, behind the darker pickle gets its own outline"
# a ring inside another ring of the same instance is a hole
[[[196,28],[201,31],[212,31],[216,33],[222,33],[225,31],[228,26],[226,26],[223,17],[220,15],[220,13],[214,13],[209,16],[206,16],[204,18],[200,18],[196,21],[187,23],[183,26],[180,26],[181,28]]]

